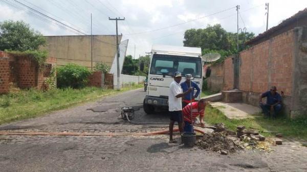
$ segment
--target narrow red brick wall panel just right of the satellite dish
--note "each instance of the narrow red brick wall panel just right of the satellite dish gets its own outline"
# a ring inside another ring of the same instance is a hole
[[[224,86],[223,90],[233,89],[233,63],[231,58],[224,61]]]

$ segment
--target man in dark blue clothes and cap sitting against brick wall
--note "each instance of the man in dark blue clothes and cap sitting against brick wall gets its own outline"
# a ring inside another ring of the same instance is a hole
[[[262,102],[262,98],[267,97],[267,103]],[[259,106],[262,109],[262,113],[265,114],[266,117],[273,116],[276,117],[277,114],[281,110],[281,96],[277,92],[277,89],[275,86],[271,87],[270,91],[264,92],[259,97]],[[271,114],[271,112],[274,112]]]

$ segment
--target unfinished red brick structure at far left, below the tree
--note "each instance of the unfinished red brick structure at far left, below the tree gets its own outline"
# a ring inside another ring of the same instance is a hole
[[[49,57],[46,65],[39,68],[37,63],[28,56],[20,56],[0,52],[0,93],[8,93],[11,86],[21,89],[43,89],[56,59]]]

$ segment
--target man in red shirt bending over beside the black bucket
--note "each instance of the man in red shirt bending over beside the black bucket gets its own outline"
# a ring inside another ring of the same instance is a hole
[[[205,99],[201,99],[199,102],[193,102],[192,104],[188,104],[186,107],[182,109],[183,120],[184,120],[184,132],[193,132],[192,122],[198,116],[200,116],[201,126],[205,126],[203,118],[205,113],[207,102]],[[191,116],[192,109],[192,116]]]

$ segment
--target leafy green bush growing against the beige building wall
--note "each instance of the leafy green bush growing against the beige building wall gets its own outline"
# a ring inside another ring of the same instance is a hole
[[[83,88],[92,72],[77,64],[67,64],[57,68],[57,87]]]

